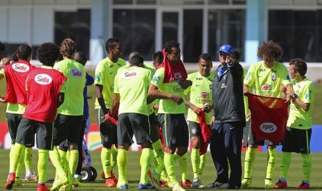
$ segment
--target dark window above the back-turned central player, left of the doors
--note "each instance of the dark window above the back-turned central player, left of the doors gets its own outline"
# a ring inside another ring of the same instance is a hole
[[[145,60],[152,60],[155,48],[155,10],[113,10],[113,37],[123,46],[123,59],[138,51]]]

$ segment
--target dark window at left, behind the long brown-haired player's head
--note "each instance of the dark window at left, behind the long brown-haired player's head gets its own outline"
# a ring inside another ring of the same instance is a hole
[[[91,10],[55,12],[55,43],[60,45],[63,39],[71,38],[89,58],[89,38],[91,29]]]

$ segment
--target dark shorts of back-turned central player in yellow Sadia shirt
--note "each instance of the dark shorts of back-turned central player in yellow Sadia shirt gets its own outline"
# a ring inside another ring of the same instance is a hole
[[[136,143],[141,145],[145,141],[150,141],[149,118],[139,113],[120,113],[118,116],[118,145],[132,145],[133,135]]]

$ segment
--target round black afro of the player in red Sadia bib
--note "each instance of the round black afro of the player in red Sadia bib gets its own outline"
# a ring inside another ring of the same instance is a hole
[[[37,50],[38,60],[45,66],[53,66],[59,55],[60,47],[53,42],[45,42]]]

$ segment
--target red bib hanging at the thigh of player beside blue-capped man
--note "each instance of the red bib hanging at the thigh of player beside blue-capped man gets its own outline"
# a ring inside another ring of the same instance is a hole
[[[211,140],[211,129],[204,120],[204,109],[200,109],[201,115],[199,115],[200,129],[202,130],[202,136],[200,136],[200,150],[199,154],[205,154],[207,152],[209,140]]]

